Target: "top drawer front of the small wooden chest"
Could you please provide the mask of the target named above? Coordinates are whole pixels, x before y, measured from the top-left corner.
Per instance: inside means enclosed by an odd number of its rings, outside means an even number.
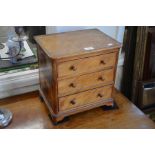
[[[58,77],[75,76],[112,67],[116,63],[117,52],[68,61],[58,64]]]

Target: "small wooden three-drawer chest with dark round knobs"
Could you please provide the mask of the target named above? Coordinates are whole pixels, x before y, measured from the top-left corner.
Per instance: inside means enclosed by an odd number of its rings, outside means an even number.
[[[120,43],[97,29],[36,36],[40,94],[53,122],[113,105]]]

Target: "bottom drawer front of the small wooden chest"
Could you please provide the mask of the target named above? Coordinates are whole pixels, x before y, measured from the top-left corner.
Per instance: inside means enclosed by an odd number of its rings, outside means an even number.
[[[112,85],[92,89],[78,94],[59,98],[59,110],[69,110],[78,106],[100,102],[111,98]]]

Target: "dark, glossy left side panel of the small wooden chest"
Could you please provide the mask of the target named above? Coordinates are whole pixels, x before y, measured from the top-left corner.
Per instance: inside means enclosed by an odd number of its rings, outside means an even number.
[[[57,113],[57,82],[55,63],[38,47],[39,80],[40,89],[50,104],[52,110]]]

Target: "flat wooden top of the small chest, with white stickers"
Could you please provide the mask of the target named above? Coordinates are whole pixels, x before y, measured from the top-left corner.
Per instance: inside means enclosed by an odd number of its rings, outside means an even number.
[[[121,44],[97,29],[79,30],[35,37],[52,59],[80,56],[120,48]]]

